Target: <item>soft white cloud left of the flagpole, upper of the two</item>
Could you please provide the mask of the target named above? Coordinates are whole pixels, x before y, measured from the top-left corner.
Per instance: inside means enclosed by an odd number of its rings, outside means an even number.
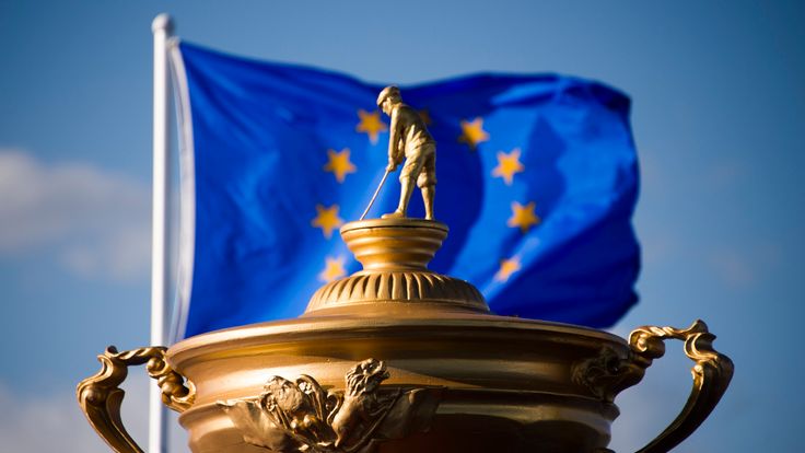
[[[150,191],[130,176],[0,149],[0,257],[52,249],[78,275],[133,279],[149,268],[150,219]]]

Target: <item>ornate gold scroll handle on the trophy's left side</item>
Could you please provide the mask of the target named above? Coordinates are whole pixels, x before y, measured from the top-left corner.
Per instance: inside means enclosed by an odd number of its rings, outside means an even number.
[[[114,346],[98,356],[101,371],[79,384],[75,394],[79,405],[90,425],[118,453],[141,453],[120,419],[124,391],[119,385],[126,380],[129,365],[148,363],[148,374],[156,380],[162,390],[162,403],[177,413],[192,405],[196,388],[191,382],[183,384],[184,378],[165,362],[166,348],[158,346],[118,352]]]

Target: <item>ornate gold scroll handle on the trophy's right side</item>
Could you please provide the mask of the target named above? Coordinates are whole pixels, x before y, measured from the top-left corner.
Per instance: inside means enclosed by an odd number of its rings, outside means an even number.
[[[726,392],[733,378],[733,361],[713,349],[715,335],[703,321],[697,320],[687,329],[643,326],[629,335],[629,346],[638,365],[648,368],[652,360],[663,357],[667,338],[685,341],[685,355],[696,362],[690,369],[693,388],[681,413],[656,439],[638,453],[664,453],[688,438],[708,418]]]

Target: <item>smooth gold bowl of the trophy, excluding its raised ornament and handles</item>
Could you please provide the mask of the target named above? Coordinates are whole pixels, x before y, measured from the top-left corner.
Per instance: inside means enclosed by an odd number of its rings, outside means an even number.
[[[370,355],[387,364],[381,388],[444,388],[428,432],[386,440],[378,452],[516,452],[552,444],[548,451],[583,452],[608,443],[617,408],[574,384],[570,365],[595,356],[602,344],[626,355],[622,339],[481,313],[422,314],[310,316],[174,346],[171,363],[200,383],[196,405],[179,418],[191,449],[248,451],[244,432],[211,407],[218,400],[254,398],[272,375],[308,374],[324,388],[343,388],[347,370]]]

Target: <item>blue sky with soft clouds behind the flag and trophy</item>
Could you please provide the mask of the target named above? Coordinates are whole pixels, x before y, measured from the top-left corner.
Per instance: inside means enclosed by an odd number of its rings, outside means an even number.
[[[290,3],[290,2],[289,2]],[[435,2],[434,2],[435,3]],[[557,2],[559,3],[559,2]],[[795,451],[805,407],[802,2],[0,0],[0,443],[103,452],[73,399],[108,344],[148,344],[151,20],[225,51],[413,83],[597,79],[633,101],[641,303],[614,332],[708,322],[733,385],[677,451]],[[682,405],[679,345],[618,399],[637,450]],[[126,415],[144,442],[145,380]],[[796,423],[798,426],[798,423]],[[182,434],[175,451],[185,451]]]

